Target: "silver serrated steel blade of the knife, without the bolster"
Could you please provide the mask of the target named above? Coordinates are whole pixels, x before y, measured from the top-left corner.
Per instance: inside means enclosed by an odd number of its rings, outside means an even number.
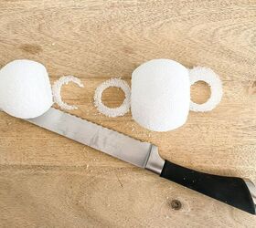
[[[59,109],[51,108],[42,116],[26,120],[141,168],[145,167],[152,149],[149,142],[135,140]]]

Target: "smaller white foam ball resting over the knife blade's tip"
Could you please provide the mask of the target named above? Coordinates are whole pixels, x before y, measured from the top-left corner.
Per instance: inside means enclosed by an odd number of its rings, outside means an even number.
[[[15,60],[0,70],[0,108],[16,118],[36,118],[52,105],[48,72],[31,60]]]

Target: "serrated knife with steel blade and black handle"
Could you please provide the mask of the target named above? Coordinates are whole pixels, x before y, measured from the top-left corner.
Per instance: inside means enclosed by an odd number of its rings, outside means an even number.
[[[59,109],[51,108],[42,116],[26,120],[122,161],[153,171],[162,178],[220,202],[255,214],[256,188],[250,180],[213,175],[182,167],[162,159],[157,147],[152,143],[135,140]]]

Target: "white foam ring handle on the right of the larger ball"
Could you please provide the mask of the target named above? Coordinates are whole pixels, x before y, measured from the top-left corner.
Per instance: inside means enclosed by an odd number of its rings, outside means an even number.
[[[210,111],[215,109],[222,98],[222,83],[219,76],[208,67],[193,67],[189,69],[190,85],[192,86],[197,81],[205,81],[211,91],[211,96],[208,101],[203,104],[197,104],[190,101],[190,110],[192,111]]]

